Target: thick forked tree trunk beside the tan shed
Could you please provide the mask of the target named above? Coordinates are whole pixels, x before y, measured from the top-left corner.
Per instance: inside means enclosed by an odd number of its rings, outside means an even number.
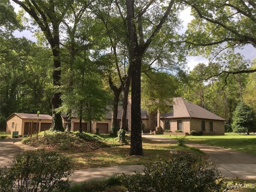
[[[13,0],[19,4],[24,10],[34,18],[38,26],[41,28],[42,32],[52,48],[53,55],[53,86],[59,88],[60,86],[60,36],[59,36],[59,26],[62,22],[68,9],[63,10],[61,13],[56,13],[56,7],[54,1],[42,2],[37,4],[37,1],[26,0],[24,2],[19,0]],[[45,3],[45,4],[44,4]],[[50,27],[49,23],[52,23]],[[60,112],[56,112],[56,108],[61,105],[61,92],[56,90],[52,95],[52,126],[51,130],[64,131],[62,125],[62,118]]]

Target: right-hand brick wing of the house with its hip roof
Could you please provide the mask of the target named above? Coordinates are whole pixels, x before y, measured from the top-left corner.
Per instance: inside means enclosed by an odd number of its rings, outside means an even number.
[[[160,124],[157,125],[156,132],[162,133],[167,129],[190,133],[195,130],[203,131],[204,135],[224,135],[225,119],[181,97],[173,98],[173,102],[170,113],[158,113]]]

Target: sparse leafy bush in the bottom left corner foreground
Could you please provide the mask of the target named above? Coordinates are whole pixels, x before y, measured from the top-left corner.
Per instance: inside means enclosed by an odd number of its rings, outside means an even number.
[[[16,156],[11,168],[0,171],[0,191],[52,192],[67,191],[72,173],[69,158],[44,150],[27,151]]]

